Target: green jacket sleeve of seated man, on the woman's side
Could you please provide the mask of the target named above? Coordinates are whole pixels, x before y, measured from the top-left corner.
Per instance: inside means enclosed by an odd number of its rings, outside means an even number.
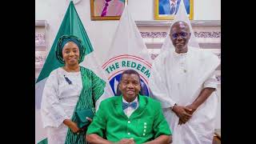
[[[104,101],[102,101],[86,134],[98,134],[98,136],[104,138],[106,133],[106,112],[104,108],[106,109],[106,106],[104,106]]]

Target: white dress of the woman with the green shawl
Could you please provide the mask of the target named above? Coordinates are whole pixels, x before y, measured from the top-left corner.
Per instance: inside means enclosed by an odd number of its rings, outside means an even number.
[[[66,82],[69,78],[70,85]],[[42,123],[47,130],[48,144],[64,144],[68,127],[63,124],[71,119],[82,90],[81,72],[66,72],[62,68],[53,70],[42,94]]]

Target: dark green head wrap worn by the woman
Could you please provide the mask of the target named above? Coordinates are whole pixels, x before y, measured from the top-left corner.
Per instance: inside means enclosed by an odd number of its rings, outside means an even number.
[[[82,40],[74,35],[62,35],[62,37],[58,39],[58,44],[55,50],[55,54],[56,54],[56,57],[58,58],[58,62],[65,64],[65,61],[62,55],[62,50],[67,42],[74,42],[78,46],[78,49],[79,49],[78,63],[82,62],[83,59],[85,58],[86,47],[82,44]]]

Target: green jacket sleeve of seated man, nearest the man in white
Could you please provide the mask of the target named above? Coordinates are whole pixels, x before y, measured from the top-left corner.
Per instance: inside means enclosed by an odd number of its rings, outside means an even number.
[[[160,135],[171,135],[170,127],[168,123],[166,122],[166,118],[162,114],[162,107],[161,104],[158,102],[158,105],[156,106],[156,115],[154,116],[154,124],[153,124],[153,130],[154,130],[154,138],[158,138]]]

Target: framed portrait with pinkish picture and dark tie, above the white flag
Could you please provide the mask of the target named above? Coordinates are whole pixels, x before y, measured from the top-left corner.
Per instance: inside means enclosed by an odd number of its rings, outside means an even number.
[[[128,0],[90,0],[91,20],[119,20]]]

